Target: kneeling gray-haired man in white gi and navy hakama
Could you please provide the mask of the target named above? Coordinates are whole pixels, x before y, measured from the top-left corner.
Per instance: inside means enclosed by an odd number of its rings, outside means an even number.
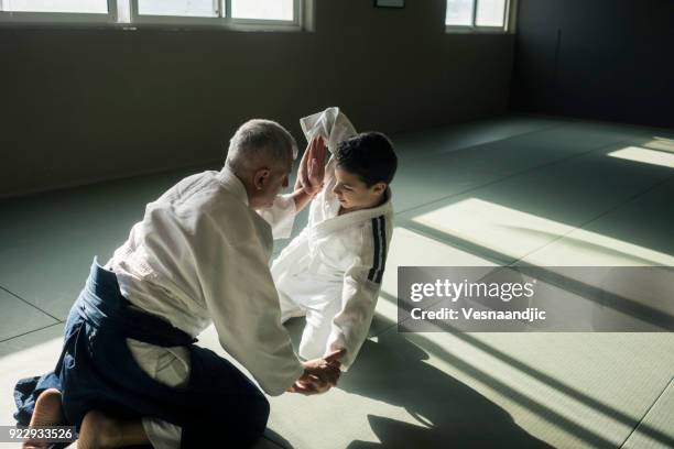
[[[54,372],[17,385],[17,419],[75,425],[79,448],[248,445],[264,430],[269,403],[194,344],[211,322],[268,394],[335,385],[341,354],[298,361],[269,271],[272,236],[287,237],[292,215],[319,188],[316,175],[279,196],[296,152],[280,124],[251,120],[220,172],[189,176],[150,202],[112,259],[94,262]]]

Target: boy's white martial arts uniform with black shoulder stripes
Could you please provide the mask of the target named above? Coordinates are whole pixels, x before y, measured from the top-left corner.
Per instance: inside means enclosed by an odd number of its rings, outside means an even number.
[[[301,120],[307,141],[320,135],[334,152],[356,134],[338,108]],[[368,336],[391,240],[391,190],[385,202],[339,216],[333,194],[335,166],[330,157],[325,187],[311,204],[308,225],[272,263],[282,320],[306,316],[298,353],[305,359],[346,349],[347,370]]]

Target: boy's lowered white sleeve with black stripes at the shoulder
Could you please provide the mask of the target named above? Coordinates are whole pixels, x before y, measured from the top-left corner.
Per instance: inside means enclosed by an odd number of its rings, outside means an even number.
[[[371,231],[370,231],[371,232]],[[360,254],[344,274],[341,310],[333,318],[328,338],[328,352],[346,349],[340,359],[346,371],[356,360],[360,347],[368,337],[374,307],[379,297],[385,262],[385,239],[366,237]],[[372,244],[367,244],[372,242]]]

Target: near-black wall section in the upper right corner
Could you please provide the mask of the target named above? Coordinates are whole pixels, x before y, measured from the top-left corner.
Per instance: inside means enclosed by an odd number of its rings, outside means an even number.
[[[518,19],[513,109],[674,127],[674,1],[520,0]]]

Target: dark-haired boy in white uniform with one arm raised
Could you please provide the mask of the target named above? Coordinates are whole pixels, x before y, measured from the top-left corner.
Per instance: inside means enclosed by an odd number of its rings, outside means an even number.
[[[398,160],[381,133],[356,134],[338,108],[301,120],[309,151],[306,173],[324,165],[316,141],[327,142],[331,157],[325,187],[312,200],[309,220],[272,264],[281,319],[306,316],[298,353],[313,359],[346,350],[341,366],[354,363],[363,343],[381,286],[391,240],[391,189]]]

